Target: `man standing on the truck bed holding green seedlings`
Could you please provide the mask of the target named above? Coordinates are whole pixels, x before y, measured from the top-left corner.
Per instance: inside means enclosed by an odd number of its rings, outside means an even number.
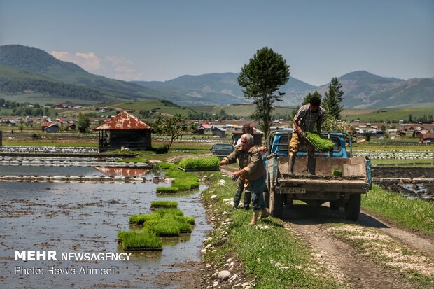
[[[293,136],[289,142],[289,160],[288,160],[288,171],[289,174],[294,173],[295,155],[300,148],[301,142],[306,137],[304,132],[313,132],[314,126],[316,124],[316,130],[318,134],[321,134],[321,125],[324,121],[325,111],[324,108],[320,106],[321,99],[318,97],[312,97],[309,104],[305,104],[300,107],[293,119],[294,129]],[[307,157],[306,157],[306,169],[311,173],[311,168],[309,167],[309,160],[314,158],[315,149],[310,143],[307,143]]]

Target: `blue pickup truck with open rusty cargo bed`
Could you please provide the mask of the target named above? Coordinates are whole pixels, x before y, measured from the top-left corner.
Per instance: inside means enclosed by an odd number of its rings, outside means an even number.
[[[351,136],[346,132],[323,132],[324,138],[335,142],[328,152],[316,150],[314,174],[307,174],[307,150],[300,147],[293,174],[288,174],[288,143],[292,130],[271,132],[268,136],[267,192],[265,202],[272,216],[280,217],[283,209],[294,200],[309,206],[321,206],[329,202],[330,209],[344,207],[347,220],[358,220],[361,194],[372,187],[370,159],[353,157]],[[287,205],[287,206],[285,206]]]

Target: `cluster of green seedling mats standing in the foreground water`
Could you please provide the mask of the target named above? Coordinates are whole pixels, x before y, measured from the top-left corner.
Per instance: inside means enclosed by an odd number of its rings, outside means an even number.
[[[130,216],[130,225],[137,226],[139,230],[120,231],[118,242],[124,250],[162,250],[161,237],[191,233],[195,218],[184,216],[177,206],[177,202],[152,202],[152,213]]]

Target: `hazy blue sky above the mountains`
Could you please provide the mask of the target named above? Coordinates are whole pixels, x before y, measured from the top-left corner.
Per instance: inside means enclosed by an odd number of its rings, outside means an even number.
[[[122,80],[239,72],[268,46],[312,85],[434,77],[433,0],[0,0],[0,45]]]

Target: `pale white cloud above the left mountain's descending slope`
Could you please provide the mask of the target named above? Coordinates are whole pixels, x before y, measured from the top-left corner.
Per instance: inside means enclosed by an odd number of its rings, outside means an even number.
[[[134,62],[125,57],[107,56],[99,59],[94,52],[52,51],[51,55],[57,59],[73,62],[90,73],[100,74],[108,78],[119,80],[141,80],[143,73],[134,68]]]

